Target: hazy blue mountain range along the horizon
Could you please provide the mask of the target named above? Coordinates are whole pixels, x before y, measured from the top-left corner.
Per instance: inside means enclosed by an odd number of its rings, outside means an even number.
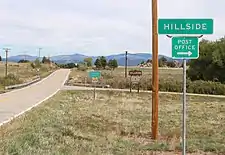
[[[58,64],[65,64],[65,63],[79,63],[84,60],[84,58],[91,57],[93,59],[93,62],[98,58],[98,56],[87,56],[87,55],[82,55],[82,54],[72,54],[72,55],[57,55],[57,56],[52,56],[50,59]],[[124,66],[125,65],[125,54],[114,54],[114,55],[108,55],[105,56],[107,61],[110,59],[116,59],[118,61],[119,66]],[[140,64],[142,61],[147,61],[148,59],[152,59],[152,54],[150,53],[135,53],[131,54],[128,53],[128,66],[137,66]],[[165,57],[167,61],[172,61],[173,59],[164,55],[159,55],[159,58]],[[29,60],[29,61],[34,61],[37,59],[37,56],[30,56],[30,55],[17,55],[17,56],[11,56],[8,58],[8,61],[11,62],[18,62],[19,60]],[[3,58],[3,61],[5,59]]]

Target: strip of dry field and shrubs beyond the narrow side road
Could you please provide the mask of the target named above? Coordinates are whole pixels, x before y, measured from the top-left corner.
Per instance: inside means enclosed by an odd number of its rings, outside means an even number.
[[[128,68],[132,70],[135,68]],[[142,70],[142,77],[139,81],[140,90],[152,90],[152,69],[136,68]],[[183,84],[182,68],[159,68],[159,91],[163,92],[182,92]],[[101,79],[99,84],[109,85],[111,88],[129,89],[130,76],[124,77],[124,68],[117,68],[114,71],[101,70]],[[86,80],[85,80],[86,77]],[[87,71],[73,69],[67,85],[76,85],[76,83],[92,83],[88,78]],[[80,85],[80,84],[79,84]],[[137,84],[132,84],[133,89],[138,89]],[[225,95],[225,84],[213,81],[196,80],[191,81],[187,76],[187,92],[195,94]]]

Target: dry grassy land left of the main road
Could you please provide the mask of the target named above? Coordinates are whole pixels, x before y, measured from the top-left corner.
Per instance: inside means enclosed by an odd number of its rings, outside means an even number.
[[[56,70],[55,66],[49,66],[48,64],[42,64],[40,68],[40,76],[41,78],[46,77],[50,73]],[[36,69],[33,69],[30,63],[9,63],[8,64],[8,75],[14,75],[13,79],[9,83],[10,84],[19,84],[25,83],[28,81],[33,80],[37,75],[38,72]],[[4,79],[5,76],[5,63],[0,62],[0,90],[4,88]],[[8,84],[8,83],[7,83]]]

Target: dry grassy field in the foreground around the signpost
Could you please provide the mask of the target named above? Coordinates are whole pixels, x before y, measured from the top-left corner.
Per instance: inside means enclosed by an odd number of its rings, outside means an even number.
[[[225,154],[225,99],[188,97],[190,154]],[[157,142],[150,137],[151,95],[62,91],[0,128],[0,154],[180,152],[181,96],[161,95]],[[195,152],[195,153],[193,153]]]

